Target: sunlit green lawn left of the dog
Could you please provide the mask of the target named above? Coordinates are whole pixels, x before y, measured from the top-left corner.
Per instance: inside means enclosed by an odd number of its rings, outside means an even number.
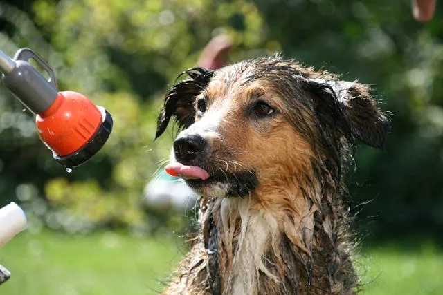
[[[181,254],[177,241],[115,233],[22,233],[0,249],[12,273],[0,294],[156,294]]]

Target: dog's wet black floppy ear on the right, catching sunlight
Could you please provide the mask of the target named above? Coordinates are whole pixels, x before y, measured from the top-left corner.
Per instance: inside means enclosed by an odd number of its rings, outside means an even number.
[[[382,148],[390,129],[388,117],[377,108],[368,86],[356,82],[304,79],[320,99],[316,111],[345,136]]]

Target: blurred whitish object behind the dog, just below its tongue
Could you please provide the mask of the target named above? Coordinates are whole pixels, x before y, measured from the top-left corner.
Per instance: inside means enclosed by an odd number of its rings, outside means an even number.
[[[172,207],[178,211],[194,207],[197,195],[181,178],[161,171],[145,186],[143,200],[149,207]]]

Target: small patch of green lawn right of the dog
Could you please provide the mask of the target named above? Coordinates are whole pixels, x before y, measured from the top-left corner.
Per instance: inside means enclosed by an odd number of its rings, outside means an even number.
[[[412,249],[397,243],[363,252],[358,263],[368,282],[365,294],[443,294],[443,251],[420,239],[413,244]]]

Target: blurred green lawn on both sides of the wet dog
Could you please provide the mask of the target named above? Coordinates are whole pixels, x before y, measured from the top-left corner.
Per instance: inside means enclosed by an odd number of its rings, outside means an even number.
[[[12,272],[0,294],[156,294],[181,256],[181,241],[104,233],[22,233],[0,249]],[[442,294],[443,252],[433,244],[370,247],[358,259],[365,294]]]

